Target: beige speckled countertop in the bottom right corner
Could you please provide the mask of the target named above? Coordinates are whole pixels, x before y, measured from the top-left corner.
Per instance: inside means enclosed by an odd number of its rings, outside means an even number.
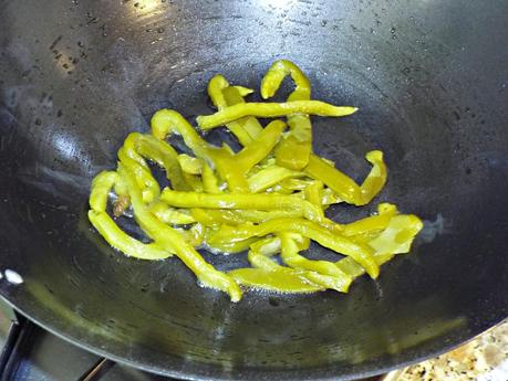
[[[508,381],[508,319],[468,343],[384,381]]]

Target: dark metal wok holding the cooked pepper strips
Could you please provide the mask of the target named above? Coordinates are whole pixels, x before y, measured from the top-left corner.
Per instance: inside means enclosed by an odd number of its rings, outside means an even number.
[[[1,295],[86,349],[187,379],[352,379],[484,331],[508,316],[506,14],[502,0],[1,1],[0,269],[24,281],[4,276]],[[356,180],[385,152],[376,201],[425,220],[412,253],[349,295],[231,304],[176,258],[108,247],[87,192],[127,133],[162,107],[209,114],[214,74],[258,88],[281,57],[314,98],[360,107],[314,118],[314,148]]]

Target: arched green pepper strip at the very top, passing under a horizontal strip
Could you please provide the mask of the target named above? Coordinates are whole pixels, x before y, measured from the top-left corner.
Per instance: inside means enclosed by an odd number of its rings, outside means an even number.
[[[294,82],[296,88],[289,95],[288,102],[309,100],[311,85],[309,78],[292,62],[276,61],[261,81],[263,99],[272,97],[287,75]],[[289,169],[301,170],[309,162],[312,152],[312,125],[308,115],[288,116],[290,133],[284,136],[276,149],[277,163]]]

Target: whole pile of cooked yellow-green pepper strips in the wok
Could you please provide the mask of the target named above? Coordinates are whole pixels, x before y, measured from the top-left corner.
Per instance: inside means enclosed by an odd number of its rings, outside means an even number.
[[[92,182],[89,218],[97,232],[132,257],[177,256],[203,286],[228,293],[232,301],[241,298],[242,288],[346,293],[355,277],[376,278],[383,263],[407,253],[423,224],[393,204],[380,203],[375,214],[346,224],[326,218],[330,205],[365,205],[382,190],[387,176],[383,154],[365,155],[372,168],[357,184],[314,152],[310,116],[344,117],[356,108],[311,99],[309,80],[286,60],[274,62],[262,78],[262,98],[272,97],[287,76],[294,89],[283,103],[250,103],[246,97],[252,89],[214,76],[208,94],[217,112],[198,116],[197,128],[176,110],[156,112],[152,133],[129,134],[116,170]],[[274,119],[262,126],[258,118]],[[225,142],[211,145],[199,134],[222,126],[242,146],[239,151]],[[183,138],[187,152],[166,140],[172,135]],[[169,184],[164,189],[153,165],[165,170]],[[134,215],[149,243],[117,225],[115,218],[123,213]],[[336,261],[305,256],[311,241],[336,252]],[[250,267],[221,272],[198,248],[216,255],[248,252]]]

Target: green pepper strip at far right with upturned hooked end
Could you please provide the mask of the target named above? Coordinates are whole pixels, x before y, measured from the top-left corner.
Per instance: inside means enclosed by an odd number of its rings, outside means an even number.
[[[369,203],[386,182],[386,166],[381,151],[371,151],[366,155],[373,165],[363,184],[359,187],[353,179],[342,173],[335,167],[319,156],[311,155],[304,172],[311,178],[321,180],[348,203],[364,205]]]

